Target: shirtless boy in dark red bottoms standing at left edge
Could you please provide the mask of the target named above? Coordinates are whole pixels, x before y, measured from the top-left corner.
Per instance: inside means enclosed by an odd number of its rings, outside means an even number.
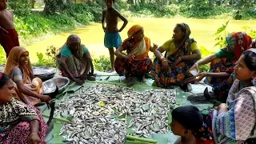
[[[14,46],[19,46],[18,33],[14,26],[14,14],[6,10],[8,0],[0,0],[0,44],[6,51],[6,58]]]

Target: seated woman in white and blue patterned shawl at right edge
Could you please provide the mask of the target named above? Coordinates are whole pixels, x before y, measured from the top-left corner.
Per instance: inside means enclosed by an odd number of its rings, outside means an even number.
[[[218,110],[202,111],[206,122],[196,134],[198,143],[255,143],[251,138],[256,138],[256,50],[242,53],[234,78],[226,103]]]

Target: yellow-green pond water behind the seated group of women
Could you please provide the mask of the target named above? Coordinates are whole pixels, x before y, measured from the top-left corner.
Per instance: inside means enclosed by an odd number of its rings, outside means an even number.
[[[140,24],[144,26],[145,34],[151,39],[151,42],[162,45],[169,38],[172,37],[172,31],[174,26],[178,22],[186,22],[192,31],[190,35],[198,42],[198,46],[205,46],[207,50],[216,51],[219,48],[214,47],[214,33],[219,26],[222,26],[224,20],[222,19],[187,19],[187,18],[129,18],[128,26],[122,31],[122,40],[127,38],[127,30],[134,24]],[[252,26],[256,21],[230,21],[227,26],[228,31],[243,31],[242,26]],[[118,23],[118,27],[122,26],[122,22]],[[108,56],[108,50],[104,47],[104,33],[102,31],[102,25],[95,23],[91,26],[84,26],[75,30],[68,31],[66,33],[54,35],[50,38],[45,38],[40,42],[36,42],[30,46],[26,46],[26,49],[30,51],[30,58],[32,62],[37,62],[38,58],[36,53],[46,53],[47,46],[61,47],[65,42],[69,34],[78,34],[82,39],[82,43],[85,44],[90,53],[97,58],[99,55]],[[23,45],[24,46],[24,45]]]

